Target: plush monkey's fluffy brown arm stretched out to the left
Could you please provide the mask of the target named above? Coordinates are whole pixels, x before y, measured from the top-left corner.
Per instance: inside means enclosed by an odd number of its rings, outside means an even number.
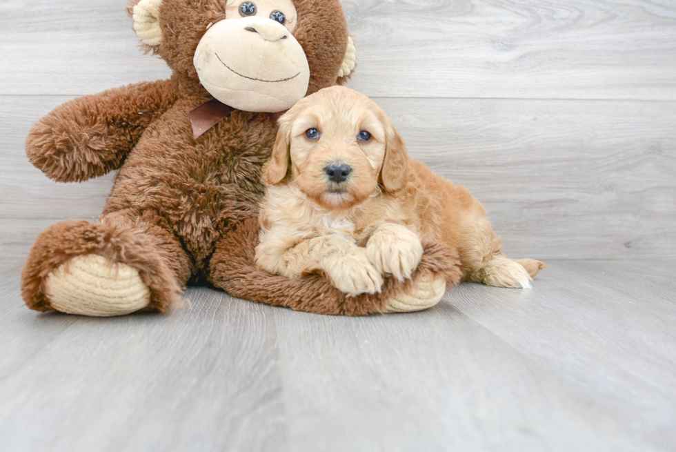
[[[170,80],[141,82],[73,99],[40,119],[26,138],[30,163],[57,182],[120,168],[143,130],[176,101]]]

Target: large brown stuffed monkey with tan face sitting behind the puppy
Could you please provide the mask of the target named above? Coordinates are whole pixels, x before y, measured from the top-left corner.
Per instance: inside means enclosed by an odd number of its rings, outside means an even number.
[[[188,284],[332,315],[417,311],[460,273],[426,244],[412,279],[346,297],[323,275],[257,271],[257,210],[277,115],[355,68],[339,0],[140,0],[129,8],[168,80],[80,97],[30,130],[30,162],[59,182],[117,171],[98,222],[44,230],[21,275],[37,311],[91,316],[166,311]]]

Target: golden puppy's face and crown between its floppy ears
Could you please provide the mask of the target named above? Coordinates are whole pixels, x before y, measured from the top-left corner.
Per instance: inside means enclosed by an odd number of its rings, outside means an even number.
[[[287,114],[291,180],[328,209],[351,208],[377,193],[386,153],[385,114],[368,97],[327,88]],[[282,119],[284,121],[284,119]]]

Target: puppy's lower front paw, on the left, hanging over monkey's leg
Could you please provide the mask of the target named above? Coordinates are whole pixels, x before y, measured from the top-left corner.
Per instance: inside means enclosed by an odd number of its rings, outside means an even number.
[[[341,257],[325,271],[332,284],[350,297],[378,293],[383,285],[383,277],[369,262],[363,248]]]

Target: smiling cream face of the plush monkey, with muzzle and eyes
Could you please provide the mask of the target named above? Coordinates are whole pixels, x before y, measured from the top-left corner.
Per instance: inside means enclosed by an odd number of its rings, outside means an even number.
[[[310,67],[292,32],[290,0],[229,0],[226,19],[208,28],[193,63],[202,86],[233,108],[279,112],[308,90]]]

